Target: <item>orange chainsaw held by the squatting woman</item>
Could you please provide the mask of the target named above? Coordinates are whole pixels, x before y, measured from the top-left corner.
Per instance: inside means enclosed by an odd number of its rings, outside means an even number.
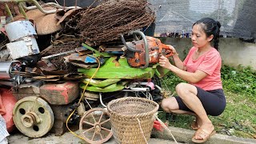
[[[160,55],[165,55],[169,58],[173,55],[170,47],[162,44],[158,38],[148,37],[142,31],[134,31],[132,33],[136,41],[126,42],[121,34],[122,43],[126,46],[126,58],[130,66],[141,67],[145,69],[150,63],[155,64],[159,62]],[[142,40],[137,37],[139,34]]]

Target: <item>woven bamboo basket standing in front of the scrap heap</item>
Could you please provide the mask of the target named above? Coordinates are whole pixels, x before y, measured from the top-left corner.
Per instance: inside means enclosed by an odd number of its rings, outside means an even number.
[[[146,98],[126,97],[107,105],[114,139],[118,143],[147,143],[158,103]]]

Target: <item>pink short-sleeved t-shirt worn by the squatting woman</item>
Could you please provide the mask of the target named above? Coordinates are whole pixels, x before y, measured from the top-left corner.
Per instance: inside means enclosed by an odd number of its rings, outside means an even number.
[[[186,66],[186,71],[194,73],[196,70],[202,70],[208,75],[202,78],[201,81],[191,84],[202,88],[202,90],[222,89],[222,58],[218,50],[212,48],[206,54],[202,54],[198,59],[194,60],[192,56],[196,50],[198,50],[197,47],[192,47],[183,62],[184,66]]]

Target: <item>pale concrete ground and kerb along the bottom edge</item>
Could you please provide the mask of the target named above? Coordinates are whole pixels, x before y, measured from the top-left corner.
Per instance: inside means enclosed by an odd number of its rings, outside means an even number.
[[[194,134],[194,130],[186,130],[177,127],[169,126],[169,130],[174,135],[174,138],[181,143],[193,143],[191,142],[192,135]],[[80,134],[79,130],[74,130],[76,134]],[[159,132],[153,130],[151,133],[152,138],[150,138],[149,144],[174,144],[171,135],[166,130]],[[24,134],[16,132],[14,134],[10,134],[8,137],[10,144],[83,144],[86,143],[80,138],[74,136],[70,132],[63,134],[62,136],[55,136],[54,134],[46,134],[42,138],[28,138]],[[115,144],[114,138],[110,138],[107,144]],[[234,136],[227,136],[222,134],[214,134],[210,139],[208,139],[205,144],[216,144],[216,143],[223,143],[223,144],[256,144],[255,139],[251,138],[238,138]]]

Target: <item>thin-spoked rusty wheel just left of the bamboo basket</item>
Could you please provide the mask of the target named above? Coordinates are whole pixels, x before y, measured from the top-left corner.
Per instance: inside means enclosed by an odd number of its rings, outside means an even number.
[[[107,110],[94,108],[83,114],[79,130],[89,143],[103,143],[112,137],[110,116]]]

